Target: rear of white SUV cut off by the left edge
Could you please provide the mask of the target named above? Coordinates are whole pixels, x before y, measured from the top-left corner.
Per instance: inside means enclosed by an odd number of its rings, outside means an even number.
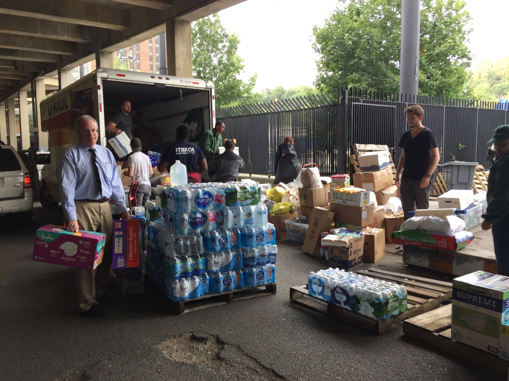
[[[32,176],[10,145],[0,144],[0,216],[18,213],[32,221],[34,194]]]

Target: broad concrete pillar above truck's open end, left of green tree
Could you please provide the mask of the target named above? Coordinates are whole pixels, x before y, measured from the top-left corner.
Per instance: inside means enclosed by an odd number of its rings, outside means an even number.
[[[166,56],[168,75],[192,78],[190,22],[183,20],[166,22]]]

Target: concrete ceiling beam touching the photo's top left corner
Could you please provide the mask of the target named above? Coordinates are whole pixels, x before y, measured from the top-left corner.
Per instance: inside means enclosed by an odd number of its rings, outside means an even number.
[[[127,10],[73,0],[0,0],[0,13],[114,30],[130,25]]]

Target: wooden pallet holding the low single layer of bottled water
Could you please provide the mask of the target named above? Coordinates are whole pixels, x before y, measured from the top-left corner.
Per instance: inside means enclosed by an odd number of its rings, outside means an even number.
[[[453,294],[453,284],[440,280],[399,274],[376,268],[357,271],[357,273],[404,285],[408,293],[408,311],[400,313],[397,316],[392,316],[388,320],[376,320],[372,317],[361,315],[360,313],[350,311],[338,305],[310,296],[307,291],[307,285],[291,287],[290,300],[315,311],[325,313],[329,316],[336,317],[337,319],[368,329],[379,335],[389,331],[393,323],[438,308],[441,302],[450,299]]]

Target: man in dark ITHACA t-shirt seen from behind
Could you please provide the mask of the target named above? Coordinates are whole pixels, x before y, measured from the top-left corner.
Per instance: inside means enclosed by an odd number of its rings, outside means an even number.
[[[199,146],[189,143],[187,138],[189,138],[189,126],[179,125],[175,134],[177,143],[164,150],[157,170],[164,173],[168,167],[175,164],[175,161],[180,160],[180,163],[187,168],[187,181],[202,182],[202,173],[207,171],[205,155]]]

